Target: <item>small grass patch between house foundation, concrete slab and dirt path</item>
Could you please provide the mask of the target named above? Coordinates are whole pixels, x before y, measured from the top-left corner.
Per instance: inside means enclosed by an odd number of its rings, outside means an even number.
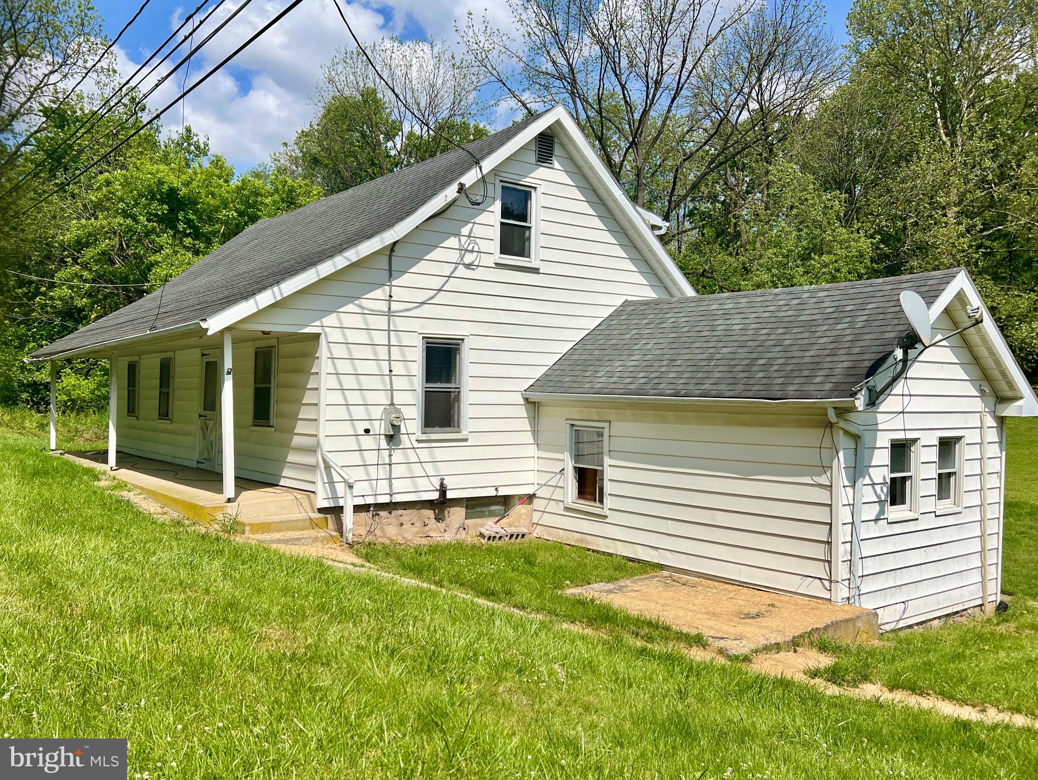
[[[609,636],[629,635],[653,642],[707,646],[702,634],[677,631],[591,598],[563,591],[593,582],[612,582],[656,572],[616,555],[599,555],[557,541],[410,547],[360,545],[355,552],[379,568],[440,585],[527,612],[577,623]]]

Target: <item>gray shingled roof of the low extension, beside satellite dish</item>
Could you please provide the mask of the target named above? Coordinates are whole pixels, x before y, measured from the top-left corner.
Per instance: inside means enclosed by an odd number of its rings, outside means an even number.
[[[811,287],[626,301],[527,392],[766,400],[847,398],[960,269]]]

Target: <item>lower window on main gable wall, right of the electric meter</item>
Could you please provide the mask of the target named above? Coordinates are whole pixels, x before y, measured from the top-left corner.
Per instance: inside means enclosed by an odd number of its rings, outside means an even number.
[[[421,433],[465,430],[465,340],[421,339]]]

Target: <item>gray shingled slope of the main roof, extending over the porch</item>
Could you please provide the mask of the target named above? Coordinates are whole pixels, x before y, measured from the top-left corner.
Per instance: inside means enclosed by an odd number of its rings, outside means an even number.
[[[536,117],[466,145],[481,160]],[[210,253],[165,288],[37,350],[43,359],[214,316],[390,229],[460,180],[472,158],[455,148],[280,217],[261,220]],[[480,192],[473,187],[473,193]]]

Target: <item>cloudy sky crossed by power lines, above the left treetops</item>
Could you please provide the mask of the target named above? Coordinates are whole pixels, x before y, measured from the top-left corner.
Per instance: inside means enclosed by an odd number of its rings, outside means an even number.
[[[401,34],[415,26],[428,36],[452,40],[455,20],[463,19],[466,10],[471,8],[481,17],[487,5],[497,9],[488,13],[500,12],[500,4],[493,0],[397,0],[387,4],[385,12],[360,2],[340,2],[353,30],[365,43]],[[253,0],[192,59],[188,83],[195,83],[286,4],[288,0]],[[240,5],[241,2],[224,3],[204,28],[195,30],[195,44]],[[174,29],[183,19],[183,11],[174,12],[169,29]],[[185,120],[196,133],[209,136],[213,150],[226,157],[240,171],[265,162],[312,118],[311,95],[323,65],[336,50],[350,46],[350,33],[332,0],[304,0],[239,54],[227,69],[215,74],[188,95]],[[152,83],[186,52],[185,45]],[[130,56],[122,50],[117,55],[119,69],[126,76],[144,59],[140,54]],[[156,89],[147,101],[153,112],[180,93],[183,78],[182,68]],[[180,119],[177,104],[163,117],[166,131],[179,129]]]

